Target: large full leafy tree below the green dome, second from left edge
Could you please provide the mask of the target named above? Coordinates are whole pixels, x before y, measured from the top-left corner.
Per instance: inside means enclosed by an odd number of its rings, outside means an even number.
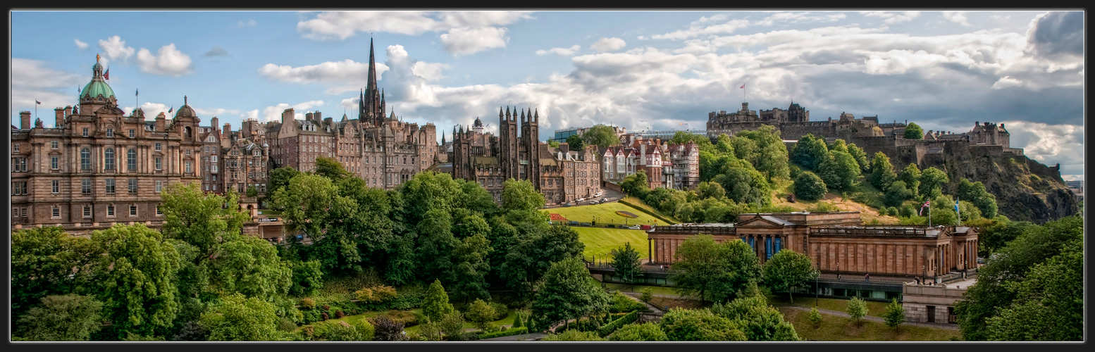
[[[99,230],[91,240],[103,250],[92,269],[96,298],[118,337],[165,332],[178,313],[175,246],[143,224]]]

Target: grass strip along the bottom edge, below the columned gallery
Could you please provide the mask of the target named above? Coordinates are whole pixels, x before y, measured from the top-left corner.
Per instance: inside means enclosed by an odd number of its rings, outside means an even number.
[[[797,305],[797,301],[795,302]],[[960,339],[961,332],[952,329],[901,325],[897,330],[885,324],[864,320],[856,326],[846,317],[821,314],[821,325],[814,328],[807,317],[809,312],[780,308],[783,317],[795,326],[799,338],[815,341],[949,341]]]

